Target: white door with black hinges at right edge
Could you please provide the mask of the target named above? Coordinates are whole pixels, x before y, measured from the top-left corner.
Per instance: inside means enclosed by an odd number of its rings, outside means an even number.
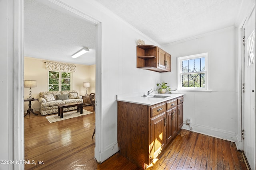
[[[244,25],[244,154],[256,170],[255,149],[255,8]]]

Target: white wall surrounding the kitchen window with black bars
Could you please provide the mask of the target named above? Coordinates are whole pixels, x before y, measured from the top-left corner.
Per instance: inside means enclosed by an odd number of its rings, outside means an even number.
[[[212,92],[179,91],[185,94],[183,121],[190,118],[193,131],[229,141],[236,140],[238,112],[236,42],[236,27],[228,27],[162,46],[172,55],[172,72],[162,73],[161,81],[172,90],[177,89],[177,57],[208,53]]]

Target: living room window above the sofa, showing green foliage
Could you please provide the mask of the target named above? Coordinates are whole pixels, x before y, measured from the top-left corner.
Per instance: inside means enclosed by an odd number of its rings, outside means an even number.
[[[49,71],[48,91],[70,90],[71,72]]]

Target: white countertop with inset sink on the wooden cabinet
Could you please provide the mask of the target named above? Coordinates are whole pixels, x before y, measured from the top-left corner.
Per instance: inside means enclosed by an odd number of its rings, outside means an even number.
[[[168,100],[172,100],[174,98],[178,98],[183,96],[184,94],[152,94],[158,96],[170,96],[168,98],[149,98],[149,97],[142,97],[143,94],[130,94],[130,95],[117,95],[117,101],[121,102],[128,102],[134,104],[142,104],[147,106],[152,106],[161,102],[165,102]]]

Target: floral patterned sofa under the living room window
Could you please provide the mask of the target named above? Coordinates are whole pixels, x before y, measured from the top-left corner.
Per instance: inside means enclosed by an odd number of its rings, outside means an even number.
[[[55,91],[55,92],[40,92],[39,111],[41,115],[49,115],[52,113],[58,113],[58,104],[83,102],[82,96],[79,96],[76,90],[69,91]],[[64,108],[63,111],[75,110],[77,107]]]

